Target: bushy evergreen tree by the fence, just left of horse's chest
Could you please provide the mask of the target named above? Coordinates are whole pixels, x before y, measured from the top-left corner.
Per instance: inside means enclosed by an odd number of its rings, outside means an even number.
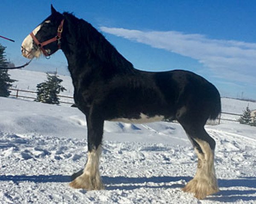
[[[37,102],[59,104],[59,98],[57,94],[66,90],[60,85],[62,79],[59,79],[57,75],[47,74],[47,81],[38,84],[37,87]]]

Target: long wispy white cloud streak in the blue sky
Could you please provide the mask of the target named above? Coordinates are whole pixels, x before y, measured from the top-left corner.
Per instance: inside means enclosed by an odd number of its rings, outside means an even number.
[[[139,31],[101,27],[113,34],[154,48],[197,59],[216,77],[256,85],[256,43],[213,40],[201,34],[178,31]]]

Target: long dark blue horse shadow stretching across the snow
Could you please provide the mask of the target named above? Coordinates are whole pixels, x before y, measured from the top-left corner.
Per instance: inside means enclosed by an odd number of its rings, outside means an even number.
[[[102,176],[102,180],[106,185],[106,190],[134,190],[141,187],[145,188],[182,188],[184,184],[166,184],[169,182],[177,182],[184,180],[188,182],[192,177],[189,176],[153,176],[153,177],[125,177],[125,176]],[[0,181],[13,181],[15,184],[19,182],[48,183],[59,182],[67,183],[72,181],[71,176],[67,175],[0,175]],[[158,185],[155,185],[158,184]],[[248,187],[255,190],[221,190],[218,193],[206,198],[211,201],[219,202],[235,202],[256,201],[256,196],[250,194],[256,193],[256,177],[241,177],[239,179],[218,179],[219,187]]]

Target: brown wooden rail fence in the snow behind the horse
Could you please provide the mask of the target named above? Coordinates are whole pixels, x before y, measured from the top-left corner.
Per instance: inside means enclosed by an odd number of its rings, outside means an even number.
[[[31,94],[37,94],[36,91],[26,91],[26,90],[21,90],[21,89],[15,89],[15,88],[9,88],[10,91],[16,91],[16,94],[10,94],[10,96],[15,96],[16,98],[20,97],[20,98],[26,98],[26,99],[36,99],[36,97],[31,97],[31,96],[23,96],[20,95],[20,92],[25,92],[25,93],[31,93]],[[67,99],[74,99],[72,96],[63,96],[63,95],[57,95],[60,98],[67,98]],[[71,104],[73,105],[74,103],[70,103],[70,102],[65,102],[65,101],[60,101],[60,103],[66,103],[66,104]],[[227,115],[233,115],[233,116],[242,116],[241,114],[237,114],[237,113],[227,113],[227,112],[221,112],[221,114],[227,114]],[[238,122],[237,120],[234,119],[225,119],[225,118],[221,118],[218,117],[218,123],[220,124],[220,120],[226,120],[226,121],[232,121],[232,122]]]

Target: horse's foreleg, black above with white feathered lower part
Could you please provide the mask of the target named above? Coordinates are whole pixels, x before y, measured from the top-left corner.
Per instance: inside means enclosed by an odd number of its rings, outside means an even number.
[[[104,189],[99,173],[99,157],[101,155],[101,142],[103,134],[104,120],[90,115],[87,117],[88,128],[88,153],[87,163],[83,172],[73,174],[76,177],[70,186],[73,188],[83,188],[86,190]]]

